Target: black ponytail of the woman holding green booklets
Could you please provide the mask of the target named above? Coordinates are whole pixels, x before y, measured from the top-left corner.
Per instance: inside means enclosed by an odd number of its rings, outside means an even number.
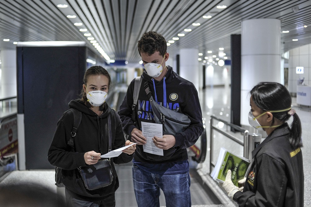
[[[291,129],[290,129],[290,145],[296,149],[298,147],[302,147],[302,139],[301,139],[301,122],[300,118],[297,115],[297,113],[294,113],[293,115],[294,121],[291,124]]]

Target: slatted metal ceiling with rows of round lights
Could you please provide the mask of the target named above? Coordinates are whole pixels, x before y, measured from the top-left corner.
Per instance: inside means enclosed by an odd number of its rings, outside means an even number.
[[[90,33],[109,58],[137,63],[137,41],[142,33],[155,30],[167,41],[185,34],[168,46],[171,57],[181,48],[218,56],[223,47],[230,59],[230,35],[240,34],[241,21],[253,18],[280,19],[280,32],[289,31],[281,33],[282,52],[311,43],[311,0],[0,0],[0,50],[15,49],[13,42],[22,41],[85,41],[100,54],[84,36]],[[184,32],[186,28],[192,31]]]

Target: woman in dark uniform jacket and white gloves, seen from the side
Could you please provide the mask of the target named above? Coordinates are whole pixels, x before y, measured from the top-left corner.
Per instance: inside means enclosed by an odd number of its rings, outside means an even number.
[[[234,186],[231,171],[222,187],[239,206],[303,206],[301,123],[290,93],[279,83],[261,82],[250,94],[249,124],[268,136],[252,152],[253,164],[240,181],[244,189]]]

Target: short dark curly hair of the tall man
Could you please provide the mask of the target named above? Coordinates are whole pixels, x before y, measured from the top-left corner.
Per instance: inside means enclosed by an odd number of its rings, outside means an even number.
[[[155,31],[145,32],[138,41],[139,55],[141,53],[147,53],[151,56],[153,53],[159,52],[161,56],[164,56],[166,50],[167,44],[165,38]]]

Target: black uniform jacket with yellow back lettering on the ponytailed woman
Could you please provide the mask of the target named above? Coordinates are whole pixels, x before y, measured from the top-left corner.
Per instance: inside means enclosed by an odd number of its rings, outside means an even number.
[[[289,142],[289,127],[276,128],[255,150],[243,192],[234,194],[239,206],[303,206],[304,169],[300,148]]]

